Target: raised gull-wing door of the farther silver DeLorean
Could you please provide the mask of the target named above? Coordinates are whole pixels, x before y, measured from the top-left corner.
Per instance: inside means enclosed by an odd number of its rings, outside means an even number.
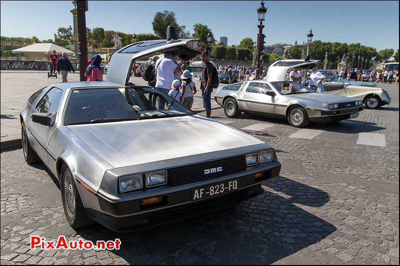
[[[293,67],[307,69],[310,66],[317,66],[319,60],[279,60],[274,62],[268,67],[268,71],[266,72],[266,76],[264,80],[273,82],[273,81],[284,81],[286,80],[287,71]]]

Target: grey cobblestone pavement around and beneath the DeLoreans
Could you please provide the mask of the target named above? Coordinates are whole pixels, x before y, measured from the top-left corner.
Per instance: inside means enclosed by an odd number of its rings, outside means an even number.
[[[117,234],[94,225],[72,230],[58,182],[21,150],[1,153],[1,264],[350,264],[399,263],[398,86],[393,102],[357,119],[311,124],[312,139],[287,122],[241,115],[213,118],[248,131],[276,149],[281,175],[265,192],[218,213]],[[244,129],[243,129],[244,130]],[[385,146],[357,144],[359,133],[382,134]],[[39,251],[30,235],[55,240],[121,240],[117,251]]]

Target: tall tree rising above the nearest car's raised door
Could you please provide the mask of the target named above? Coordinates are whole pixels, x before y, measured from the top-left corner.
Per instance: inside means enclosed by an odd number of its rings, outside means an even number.
[[[168,26],[175,27],[178,37],[185,30],[185,26],[179,27],[176,22],[175,13],[168,10],[156,12],[151,24],[153,25],[154,33],[161,39],[166,39],[166,28]]]

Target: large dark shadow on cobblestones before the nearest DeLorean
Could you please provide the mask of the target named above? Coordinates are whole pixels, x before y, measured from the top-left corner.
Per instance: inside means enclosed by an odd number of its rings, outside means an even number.
[[[119,238],[111,251],[129,264],[272,264],[326,238],[334,226],[293,203],[321,207],[326,192],[277,177],[256,198],[197,218],[131,233],[100,225],[77,233],[86,240]],[[285,194],[284,196],[281,194]]]

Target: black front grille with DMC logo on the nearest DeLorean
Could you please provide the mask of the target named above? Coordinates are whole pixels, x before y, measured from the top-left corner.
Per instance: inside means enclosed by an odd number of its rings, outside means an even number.
[[[218,167],[222,171],[216,171]],[[204,174],[204,170],[209,169],[209,174]],[[199,164],[192,164],[168,169],[168,185],[179,186],[197,181],[207,180],[215,177],[230,175],[246,170],[246,157],[240,155],[216,161]]]

